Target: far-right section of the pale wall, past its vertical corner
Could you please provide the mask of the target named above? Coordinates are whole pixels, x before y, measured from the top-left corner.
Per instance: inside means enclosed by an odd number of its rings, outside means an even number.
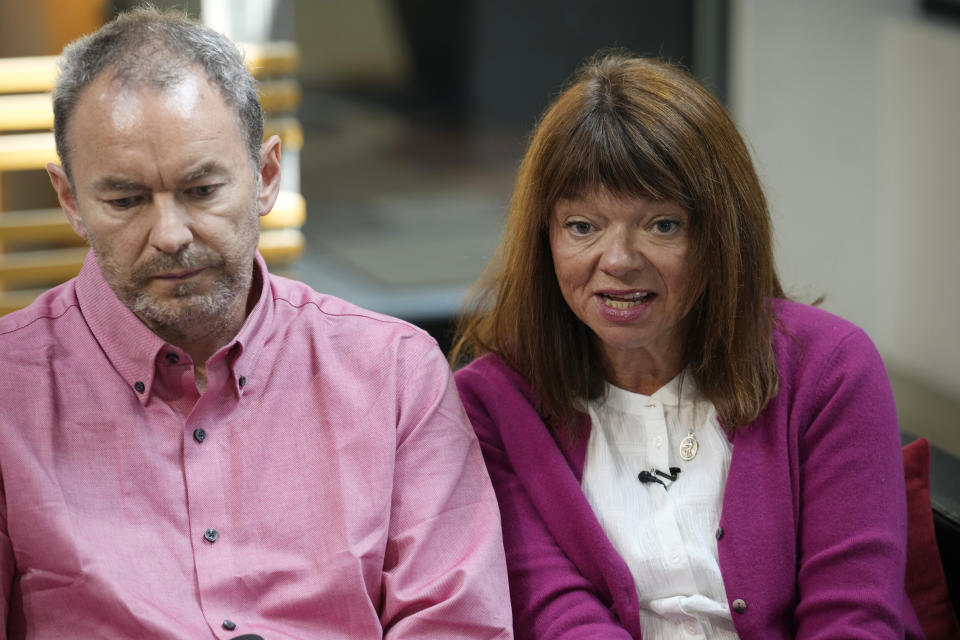
[[[960,24],[889,20],[884,39],[881,176],[896,295],[883,348],[960,396]]]

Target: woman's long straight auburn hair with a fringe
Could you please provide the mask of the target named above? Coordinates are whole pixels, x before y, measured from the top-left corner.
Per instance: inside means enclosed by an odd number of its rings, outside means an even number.
[[[451,363],[495,353],[530,383],[558,433],[609,379],[598,338],[560,291],[549,229],[561,199],[605,189],[691,213],[697,282],[685,365],[729,428],[776,395],[771,300],[783,298],[770,216],[750,154],[723,106],[667,62],[601,53],[547,108],[520,165],[500,245],[457,324]]]

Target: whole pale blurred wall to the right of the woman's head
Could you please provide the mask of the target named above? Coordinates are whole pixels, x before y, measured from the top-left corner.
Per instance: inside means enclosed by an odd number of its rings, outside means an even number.
[[[784,284],[960,401],[960,23],[914,0],[732,4],[731,109]]]

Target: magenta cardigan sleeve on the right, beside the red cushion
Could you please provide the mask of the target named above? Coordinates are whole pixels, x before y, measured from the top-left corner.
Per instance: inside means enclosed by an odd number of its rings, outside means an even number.
[[[797,407],[796,638],[903,638],[906,495],[890,384],[860,330],[822,362]]]

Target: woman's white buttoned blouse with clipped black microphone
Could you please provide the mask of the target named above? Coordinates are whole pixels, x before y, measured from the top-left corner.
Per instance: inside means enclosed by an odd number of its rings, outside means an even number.
[[[633,574],[645,640],[737,638],[720,575],[716,530],[733,447],[692,376],[652,396],[607,385],[589,403],[592,428],[583,492]],[[693,427],[699,451],[689,462],[680,443]],[[669,474],[642,483],[641,471]]]

